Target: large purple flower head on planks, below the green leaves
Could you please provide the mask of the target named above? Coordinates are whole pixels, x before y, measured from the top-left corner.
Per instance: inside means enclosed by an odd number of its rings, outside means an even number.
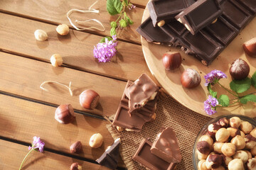
[[[117,35],[112,36],[113,40],[105,39],[105,42],[97,43],[93,50],[93,55],[99,62],[110,62],[110,59],[117,53]]]

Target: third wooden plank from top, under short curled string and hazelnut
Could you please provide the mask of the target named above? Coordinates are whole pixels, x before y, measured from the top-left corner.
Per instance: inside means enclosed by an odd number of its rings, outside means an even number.
[[[125,81],[80,72],[67,67],[55,68],[45,62],[4,52],[0,52],[0,65],[1,91],[55,105],[70,103],[75,109],[97,115],[112,115],[117,111],[126,84]],[[68,89],[56,84],[45,84],[44,87],[48,91],[40,89],[41,83],[48,80],[66,85],[72,81],[73,96],[70,96]],[[86,110],[80,106],[79,95],[85,89],[92,89],[100,94],[100,104],[97,108]]]

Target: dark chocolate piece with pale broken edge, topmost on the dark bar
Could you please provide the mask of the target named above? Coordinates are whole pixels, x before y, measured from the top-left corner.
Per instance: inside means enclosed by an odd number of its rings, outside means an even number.
[[[222,11],[216,0],[199,0],[175,16],[186,28],[195,35],[199,30],[205,28],[215,21]]]

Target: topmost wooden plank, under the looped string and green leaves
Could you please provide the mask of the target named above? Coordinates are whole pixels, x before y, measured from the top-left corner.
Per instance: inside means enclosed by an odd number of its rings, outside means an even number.
[[[73,8],[80,10],[87,10],[95,1],[67,1],[67,0],[45,0],[45,1],[10,1],[1,0],[1,11],[16,13],[18,15],[27,16],[29,18],[36,18],[37,20],[47,21],[54,24],[65,23],[71,26],[66,13]],[[73,13],[71,18],[73,21],[78,19],[85,21],[87,19],[95,18],[102,22],[105,26],[105,32],[98,30],[90,30],[90,33],[97,33],[100,35],[110,35],[110,21],[116,21],[118,16],[110,16],[106,9],[106,1],[98,1],[94,8],[100,10],[100,13]],[[136,29],[142,21],[144,8],[136,8],[134,11],[127,10],[129,17],[134,21],[134,24],[128,29],[119,30],[118,38],[122,40],[129,40],[131,42],[141,43],[140,35]],[[95,23],[90,23],[92,26],[97,26]],[[99,26],[97,26],[99,27]]]

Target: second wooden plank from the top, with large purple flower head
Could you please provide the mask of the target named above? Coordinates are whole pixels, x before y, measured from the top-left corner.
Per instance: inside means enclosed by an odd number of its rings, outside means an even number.
[[[117,79],[135,80],[140,74],[149,72],[142,47],[127,42],[119,42],[117,55],[111,62],[99,63],[93,57],[94,45],[101,37],[80,31],[71,31],[63,37],[57,35],[55,26],[31,21],[25,18],[0,13],[0,49],[50,61],[50,56],[59,53],[64,64],[88,72],[106,75]],[[36,29],[46,30],[48,40],[39,42],[34,38]]]

